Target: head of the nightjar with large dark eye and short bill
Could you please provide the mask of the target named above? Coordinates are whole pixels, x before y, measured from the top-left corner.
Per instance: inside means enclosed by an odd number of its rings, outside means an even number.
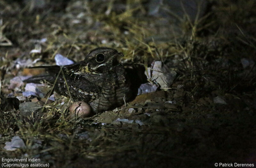
[[[117,65],[117,57],[124,56],[113,48],[100,47],[92,50],[84,59],[85,70],[94,73],[103,73]]]

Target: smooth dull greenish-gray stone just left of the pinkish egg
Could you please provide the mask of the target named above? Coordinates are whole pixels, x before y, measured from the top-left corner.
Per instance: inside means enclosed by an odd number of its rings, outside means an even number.
[[[20,114],[26,117],[30,117],[32,113],[36,114],[36,116],[42,116],[42,106],[33,102],[24,102],[19,105]]]

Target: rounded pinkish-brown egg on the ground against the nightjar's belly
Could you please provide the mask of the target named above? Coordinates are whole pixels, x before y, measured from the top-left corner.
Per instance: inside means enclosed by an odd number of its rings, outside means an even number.
[[[75,114],[78,117],[87,117],[91,114],[92,108],[88,103],[83,101],[76,101],[69,107],[71,114]]]

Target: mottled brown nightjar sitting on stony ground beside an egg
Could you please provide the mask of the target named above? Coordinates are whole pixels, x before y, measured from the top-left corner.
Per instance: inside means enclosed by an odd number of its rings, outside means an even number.
[[[84,59],[65,66],[39,66],[44,75],[30,77],[24,82],[39,83],[45,80],[54,84],[54,90],[77,101],[91,105],[94,112],[101,112],[124,104],[132,98],[131,79],[123,65],[117,62],[124,56],[115,49],[100,47]]]

